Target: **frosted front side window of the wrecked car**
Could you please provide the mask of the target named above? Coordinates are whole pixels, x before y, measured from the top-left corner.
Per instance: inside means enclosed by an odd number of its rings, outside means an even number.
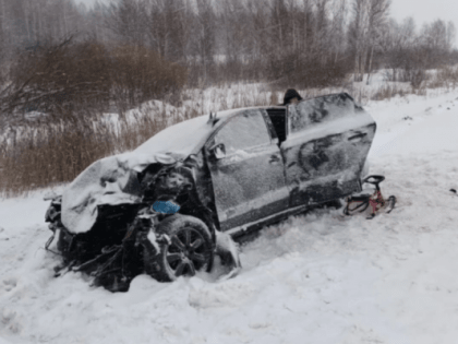
[[[222,143],[226,154],[270,143],[266,122],[257,111],[244,111],[232,117],[215,135],[215,143]]]

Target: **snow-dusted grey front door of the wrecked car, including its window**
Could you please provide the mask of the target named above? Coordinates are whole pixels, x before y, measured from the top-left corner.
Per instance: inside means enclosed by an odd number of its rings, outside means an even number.
[[[266,116],[264,109],[239,112],[205,146],[221,230],[288,207],[284,158]]]

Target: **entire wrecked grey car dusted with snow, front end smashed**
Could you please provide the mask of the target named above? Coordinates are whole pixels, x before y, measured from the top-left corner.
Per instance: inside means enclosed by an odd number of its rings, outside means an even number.
[[[160,282],[208,272],[216,254],[237,271],[233,240],[361,191],[375,127],[346,93],[169,127],[51,199],[57,274],[85,272],[116,292],[144,272]]]

